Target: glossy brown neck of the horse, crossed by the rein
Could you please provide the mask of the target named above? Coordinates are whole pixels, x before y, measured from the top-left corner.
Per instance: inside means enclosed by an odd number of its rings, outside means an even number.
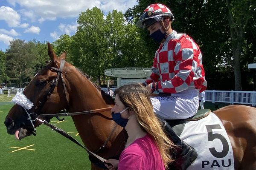
[[[69,84],[69,112],[89,111],[107,108],[99,90],[82,74],[67,77]],[[72,116],[83,143],[90,150],[97,150],[109,135],[113,121],[110,111],[88,115]]]

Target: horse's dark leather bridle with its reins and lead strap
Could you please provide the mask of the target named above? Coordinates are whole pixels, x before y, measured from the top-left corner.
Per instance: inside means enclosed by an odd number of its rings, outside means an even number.
[[[95,153],[98,153],[99,151],[101,151],[102,149],[104,149],[106,147],[106,145],[108,144],[108,141],[110,140],[111,136],[113,135],[114,133],[114,130],[116,129],[117,127],[117,124],[115,124],[111,130],[111,133],[109,134],[108,138],[105,140],[104,144],[99,147],[98,150],[96,151],[93,151],[91,152],[90,150],[88,150],[84,145],[82,145],[81,143],[79,143],[76,139],[74,139],[72,136],[70,136],[68,133],[66,133],[64,130],[56,127],[55,125],[52,125],[50,123],[48,123],[46,120],[41,120],[41,119],[38,119],[40,117],[47,117],[47,116],[52,116],[52,117],[56,117],[58,120],[60,120],[58,118],[58,116],[75,116],[75,115],[81,115],[81,114],[91,114],[91,113],[100,113],[100,112],[103,112],[103,111],[110,111],[111,108],[113,107],[108,107],[108,108],[101,108],[101,109],[95,109],[95,110],[92,110],[92,111],[82,111],[82,112],[73,112],[73,113],[56,113],[56,114],[39,114],[41,109],[44,107],[45,103],[47,102],[47,100],[49,99],[49,97],[51,96],[52,92],[54,91],[55,87],[58,85],[58,81],[59,79],[61,78],[61,81],[63,83],[63,88],[64,88],[64,95],[65,95],[65,99],[66,99],[66,102],[67,104],[69,103],[69,98],[67,96],[67,88],[66,88],[66,85],[65,85],[65,81],[64,81],[64,78],[63,78],[63,68],[64,68],[64,63],[65,63],[65,60],[64,59],[61,59],[61,64],[60,64],[60,68],[55,68],[55,67],[50,67],[50,69],[53,69],[55,71],[58,71],[58,74],[57,76],[55,77],[54,80],[52,80],[48,90],[46,91],[46,95],[43,96],[40,100],[39,100],[39,104],[37,106],[35,106],[35,112],[34,113],[29,113],[26,108],[22,107],[26,113],[27,113],[27,120],[29,120],[32,124],[32,127],[33,127],[33,131],[32,131],[32,134],[35,136],[35,126],[34,126],[34,123],[35,121],[38,121],[40,122],[41,124],[44,124],[44,125],[47,125],[48,127],[50,127],[52,130],[55,130],[56,132],[60,133],[62,136],[70,139],[72,142],[78,144],[80,147],[84,148],[85,150],[87,150],[87,152],[89,154],[92,154],[93,156],[96,156],[96,158],[102,160],[101,157],[97,156]],[[61,120],[60,120],[61,121]]]

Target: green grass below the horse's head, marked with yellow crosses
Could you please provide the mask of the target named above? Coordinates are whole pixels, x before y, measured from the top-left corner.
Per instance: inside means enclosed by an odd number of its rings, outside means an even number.
[[[3,122],[12,105],[0,105],[0,170],[90,170],[87,152],[47,126],[37,127],[37,136],[29,136],[21,141],[7,134]],[[55,124],[66,132],[77,132],[71,117],[67,117],[65,122],[68,123]],[[70,135],[81,142],[76,134]],[[32,144],[34,146],[28,149],[35,151],[18,150],[11,153],[17,150],[12,147],[26,147]]]

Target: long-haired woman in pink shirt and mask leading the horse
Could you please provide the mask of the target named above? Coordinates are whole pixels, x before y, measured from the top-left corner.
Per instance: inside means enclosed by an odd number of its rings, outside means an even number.
[[[139,84],[115,91],[113,120],[128,133],[119,160],[105,161],[109,170],[165,170],[173,161],[169,152],[175,145],[168,139],[154,115],[149,92]]]

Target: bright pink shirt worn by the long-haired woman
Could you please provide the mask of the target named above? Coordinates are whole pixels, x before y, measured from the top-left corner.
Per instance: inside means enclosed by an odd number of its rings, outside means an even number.
[[[149,134],[122,151],[118,170],[165,170],[157,145]]]

